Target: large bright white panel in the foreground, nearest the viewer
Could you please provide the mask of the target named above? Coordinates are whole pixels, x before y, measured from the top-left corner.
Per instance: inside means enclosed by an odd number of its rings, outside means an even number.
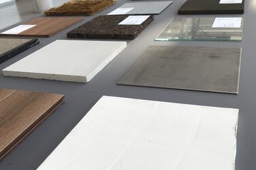
[[[102,97],[39,170],[234,170],[238,109]]]

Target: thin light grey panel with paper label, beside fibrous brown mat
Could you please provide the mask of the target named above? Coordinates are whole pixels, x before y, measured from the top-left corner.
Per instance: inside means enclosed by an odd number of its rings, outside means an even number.
[[[125,3],[108,15],[160,14],[172,1],[148,1]]]

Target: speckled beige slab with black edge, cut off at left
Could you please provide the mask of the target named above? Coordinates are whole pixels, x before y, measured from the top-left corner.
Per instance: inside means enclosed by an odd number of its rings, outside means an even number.
[[[37,44],[38,39],[0,38],[0,64]]]

